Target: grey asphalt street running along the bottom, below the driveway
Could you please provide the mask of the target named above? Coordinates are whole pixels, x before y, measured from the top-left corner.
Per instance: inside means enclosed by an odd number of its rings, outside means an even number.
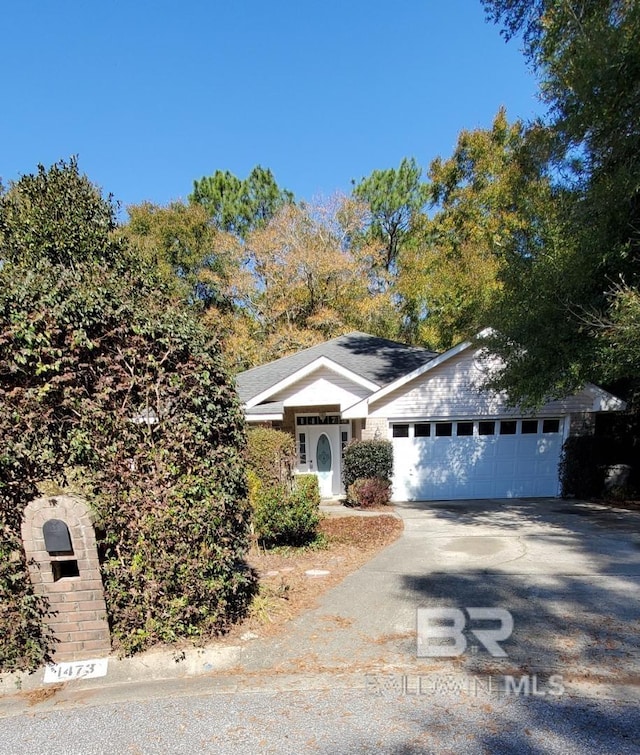
[[[365,686],[358,686],[364,681]],[[610,753],[640,750],[636,704],[434,691],[384,675],[297,689],[208,691],[1,720],[0,752]],[[399,686],[399,689],[398,689]],[[166,690],[170,692],[170,690]],[[133,690],[132,690],[133,692]]]

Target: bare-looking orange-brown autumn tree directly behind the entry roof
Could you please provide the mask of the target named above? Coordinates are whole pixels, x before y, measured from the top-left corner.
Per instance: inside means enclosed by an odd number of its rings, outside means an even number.
[[[388,335],[397,315],[388,292],[369,288],[369,254],[350,240],[365,209],[336,197],[285,205],[247,237],[247,279],[241,309],[249,313],[258,361],[284,356],[349,330]]]

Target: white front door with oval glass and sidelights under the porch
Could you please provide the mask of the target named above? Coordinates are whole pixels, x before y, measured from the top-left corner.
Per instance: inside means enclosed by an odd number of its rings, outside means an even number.
[[[315,474],[322,498],[342,491],[342,448],[351,438],[350,424],[339,415],[299,415],[296,421],[296,472]]]

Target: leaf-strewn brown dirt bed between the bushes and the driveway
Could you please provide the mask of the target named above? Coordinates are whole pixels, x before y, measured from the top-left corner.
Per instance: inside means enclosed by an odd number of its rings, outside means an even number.
[[[320,595],[390,545],[402,532],[402,521],[390,514],[327,517],[320,523],[322,548],[260,550],[249,563],[260,576],[260,592],[251,614],[225,636],[234,643],[251,635],[273,636],[288,621],[315,605]],[[328,571],[307,576],[307,571]],[[335,625],[340,626],[340,617]]]

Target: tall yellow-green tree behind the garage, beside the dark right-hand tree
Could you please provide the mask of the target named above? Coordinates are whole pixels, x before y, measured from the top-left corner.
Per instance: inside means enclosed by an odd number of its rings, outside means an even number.
[[[414,339],[448,349],[488,324],[510,257],[538,254],[551,202],[544,140],[500,110],[490,129],[462,131],[429,168],[434,213],[399,255],[397,290]]]

